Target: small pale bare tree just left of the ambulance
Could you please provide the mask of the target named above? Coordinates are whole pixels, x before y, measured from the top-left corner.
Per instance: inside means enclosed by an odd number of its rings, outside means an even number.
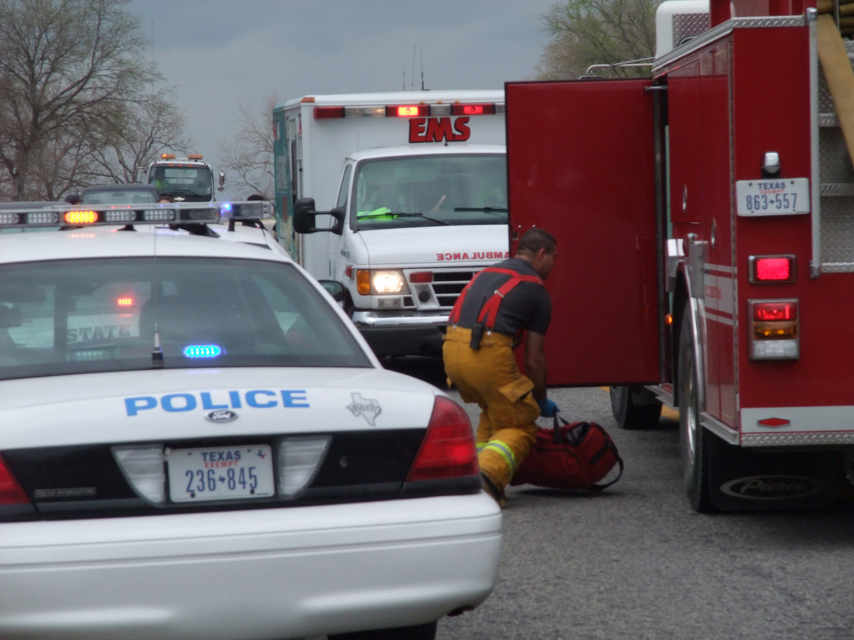
[[[272,200],[272,109],[277,103],[278,97],[272,95],[263,98],[259,112],[237,105],[240,130],[231,142],[219,144],[220,166],[228,171],[231,189]]]

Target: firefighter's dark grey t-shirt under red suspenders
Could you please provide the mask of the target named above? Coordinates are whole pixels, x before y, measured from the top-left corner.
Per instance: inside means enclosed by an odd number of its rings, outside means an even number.
[[[509,258],[494,266],[499,269],[512,269],[524,276],[537,275],[534,266],[521,258]],[[493,296],[495,290],[509,279],[510,276],[504,273],[478,273],[465,294],[458,325],[464,329],[474,327],[483,305]],[[551,319],[552,299],[546,288],[536,282],[519,282],[506,294],[504,300],[501,300],[493,331],[516,335],[519,329],[528,329],[537,334],[545,334]]]

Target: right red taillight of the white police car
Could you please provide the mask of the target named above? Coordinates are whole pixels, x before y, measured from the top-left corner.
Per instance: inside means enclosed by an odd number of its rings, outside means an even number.
[[[477,476],[477,450],[469,416],[451,399],[438,397],[407,482]]]

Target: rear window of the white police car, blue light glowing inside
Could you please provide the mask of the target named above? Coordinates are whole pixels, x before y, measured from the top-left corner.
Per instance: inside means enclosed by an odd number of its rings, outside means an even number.
[[[0,379],[166,369],[369,367],[292,265],[75,259],[0,265]]]

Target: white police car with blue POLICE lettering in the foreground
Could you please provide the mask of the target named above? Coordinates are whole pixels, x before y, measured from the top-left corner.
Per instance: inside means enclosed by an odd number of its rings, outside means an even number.
[[[434,637],[492,590],[465,412],[220,207],[0,210],[46,229],[0,234],[0,637]]]

